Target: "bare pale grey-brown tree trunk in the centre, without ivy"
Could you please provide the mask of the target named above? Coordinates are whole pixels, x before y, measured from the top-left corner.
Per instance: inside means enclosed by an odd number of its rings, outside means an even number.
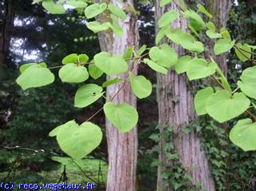
[[[125,0],[122,2],[112,0],[110,2],[118,5],[123,10],[125,7],[134,7],[133,0]],[[111,54],[123,54],[129,46],[134,46],[135,49],[138,49],[138,23],[134,13],[128,12],[126,20],[119,22],[119,24],[124,32],[122,38],[118,38],[115,34],[110,32],[99,34],[102,50],[108,51]],[[137,74],[137,66],[130,64],[129,70],[134,70],[134,73]],[[111,78],[126,78],[127,76],[128,73],[112,76]],[[121,86],[122,83],[108,86],[106,89],[107,97],[113,97]],[[136,97],[132,94],[130,86],[126,85],[119,92],[118,96],[114,98],[114,102],[116,104],[127,102],[136,107]],[[106,138],[109,157],[106,190],[134,191],[138,155],[137,127],[134,127],[129,133],[120,133],[110,121],[106,120]]]

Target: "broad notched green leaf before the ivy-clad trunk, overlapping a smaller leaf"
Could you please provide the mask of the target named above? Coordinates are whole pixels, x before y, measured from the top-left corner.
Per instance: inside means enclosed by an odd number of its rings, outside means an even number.
[[[190,80],[206,78],[216,71],[216,63],[210,62],[209,64],[203,58],[192,59],[186,67],[186,75]]]

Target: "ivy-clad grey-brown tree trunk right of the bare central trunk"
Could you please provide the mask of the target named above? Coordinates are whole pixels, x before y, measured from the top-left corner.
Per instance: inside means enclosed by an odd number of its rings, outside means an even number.
[[[155,1],[155,19],[158,23],[158,19],[162,16],[166,10],[177,10],[177,7],[172,3],[170,7],[161,8],[159,1]],[[186,30],[186,21],[177,19],[173,23],[174,28],[182,28]],[[156,24],[156,32],[158,33],[158,27]],[[178,55],[183,55],[184,50],[181,47],[172,44]],[[202,189],[207,191],[214,191],[214,180],[210,173],[210,167],[206,158],[206,154],[202,147],[202,143],[198,137],[198,134],[194,129],[190,129],[190,133],[184,133],[182,127],[189,125],[190,121],[194,120],[194,106],[193,96],[190,90],[187,89],[186,77],[184,75],[175,74],[174,71],[169,71],[167,75],[158,74],[158,114],[159,123],[162,126],[169,125],[174,129],[174,147],[180,157],[180,162],[183,167],[192,175],[192,182],[201,183]],[[166,94],[166,90],[169,90],[170,94]],[[178,101],[174,101],[174,98],[178,98]],[[163,137],[166,129],[161,128],[160,134]],[[165,140],[162,138],[160,141],[161,150],[166,145]],[[159,160],[165,164],[169,161],[166,159],[165,153],[162,151],[159,153]],[[164,167],[158,167],[158,190],[171,190],[170,186],[164,185],[161,177]]]

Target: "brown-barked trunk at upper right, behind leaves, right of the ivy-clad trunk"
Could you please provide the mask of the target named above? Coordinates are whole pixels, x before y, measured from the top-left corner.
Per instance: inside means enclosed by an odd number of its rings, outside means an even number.
[[[216,30],[220,30],[222,27],[226,27],[226,22],[229,18],[231,2],[230,0],[205,0],[206,10],[213,14],[213,22],[216,26]],[[206,44],[209,48],[208,54],[210,54],[214,60],[218,63],[218,66],[223,71],[223,74],[227,74],[226,54],[214,56],[214,43],[215,39],[207,39]],[[206,55],[208,57],[209,55]]]

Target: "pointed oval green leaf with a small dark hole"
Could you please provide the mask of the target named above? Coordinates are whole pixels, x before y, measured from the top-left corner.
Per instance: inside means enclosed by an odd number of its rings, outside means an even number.
[[[96,84],[86,84],[81,86],[74,96],[75,107],[86,107],[102,97],[102,87]]]

